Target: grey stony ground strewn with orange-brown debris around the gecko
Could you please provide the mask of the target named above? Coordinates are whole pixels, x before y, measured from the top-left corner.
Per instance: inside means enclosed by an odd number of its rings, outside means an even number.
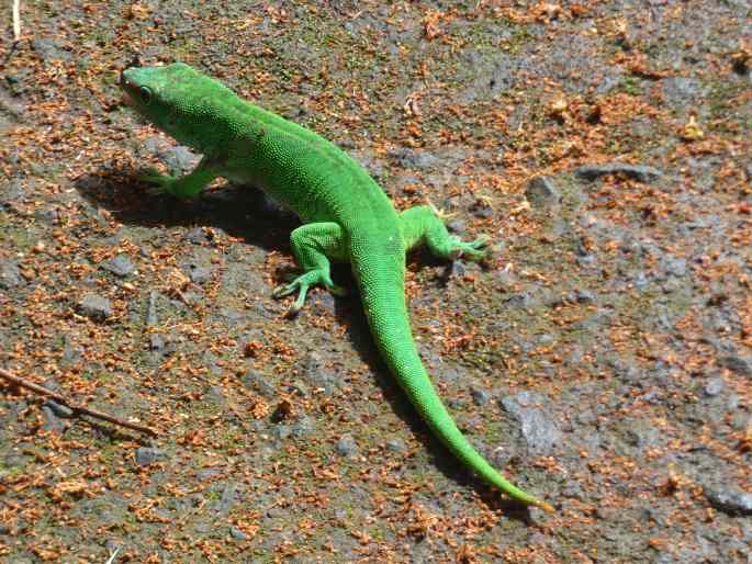
[[[0,561],[752,562],[747,1],[24,0],[18,42],[2,10],[0,368],[157,435],[0,384]],[[123,106],[136,54],[493,237],[411,257],[412,323],[554,515],[430,437],[357,295],[284,317],[293,217],[137,180],[195,156]]]

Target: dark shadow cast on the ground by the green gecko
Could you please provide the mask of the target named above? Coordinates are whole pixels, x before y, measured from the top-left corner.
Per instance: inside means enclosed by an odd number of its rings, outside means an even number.
[[[76,189],[92,207],[105,210],[123,225],[147,228],[212,227],[244,244],[288,255],[291,253],[290,232],[300,225],[292,213],[271,202],[260,190],[248,187],[228,184],[204,192],[193,200],[177,201],[172,196],[154,195],[146,191],[136,179],[135,171],[109,171],[101,176],[81,177],[76,182]],[[446,285],[451,263],[434,258],[426,249],[412,252],[408,261],[416,261],[419,268],[434,268],[442,272],[436,280],[437,284]],[[285,273],[289,272],[277,272],[280,283]],[[402,393],[375,348],[349,266],[333,264],[333,278],[349,291],[347,296],[334,301],[337,323],[346,327],[347,337],[360,360],[371,366],[375,384],[390,408],[430,453],[430,463],[452,482],[476,490],[490,509],[503,510],[514,519],[529,522],[528,509],[504,498],[473,476],[433,435]],[[427,370],[430,375],[430,369]]]

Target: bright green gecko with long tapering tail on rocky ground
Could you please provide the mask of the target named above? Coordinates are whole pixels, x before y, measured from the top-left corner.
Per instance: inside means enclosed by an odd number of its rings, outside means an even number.
[[[131,67],[120,81],[126,102],[156,127],[203,155],[180,178],[144,177],[162,192],[190,198],[217,177],[262,189],[292,210],[302,226],[291,234],[303,273],[274,291],[298,292],[292,311],[308,289],[335,294],[329,261],[347,261],[377,347],[401,387],[434,433],[469,469],[509,497],[553,507],[506,481],[470,444],[441,403],[418,357],[405,303],[405,252],[427,245],[436,257],[481,259],[487,239],[463,242],[450,236],[431,206],[397,213],[366,170],[319,135],[250,104],[221,82],[188,65]]]

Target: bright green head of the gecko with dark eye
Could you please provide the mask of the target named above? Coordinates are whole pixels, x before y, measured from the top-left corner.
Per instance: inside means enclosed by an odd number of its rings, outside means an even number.
[[[178,142],[197,147],[206,134],[212,100],[225,88],[183,63],[161,67],[132,64],[120,75],[125,102]],[[211,122],[210,122],[211,123]],[[211,126],[209,128],[211,131]]]

